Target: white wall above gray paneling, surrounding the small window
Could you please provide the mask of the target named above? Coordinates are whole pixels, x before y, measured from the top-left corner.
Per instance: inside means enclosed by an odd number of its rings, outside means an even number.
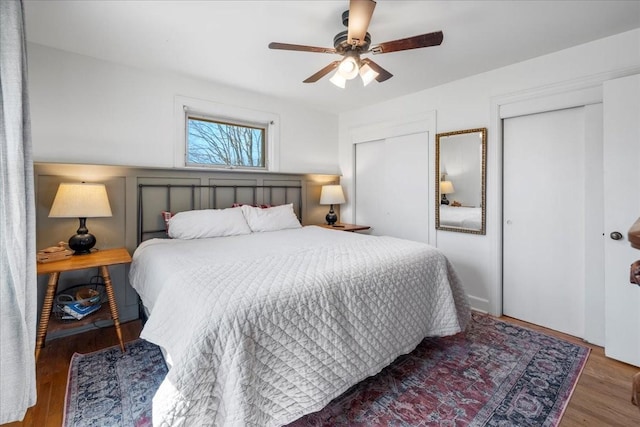
[[[27,46],[38,162],[174,167],[174,98],[273,113],[280,119],[280,172],[338,173],[338,117],[281,99]]]

